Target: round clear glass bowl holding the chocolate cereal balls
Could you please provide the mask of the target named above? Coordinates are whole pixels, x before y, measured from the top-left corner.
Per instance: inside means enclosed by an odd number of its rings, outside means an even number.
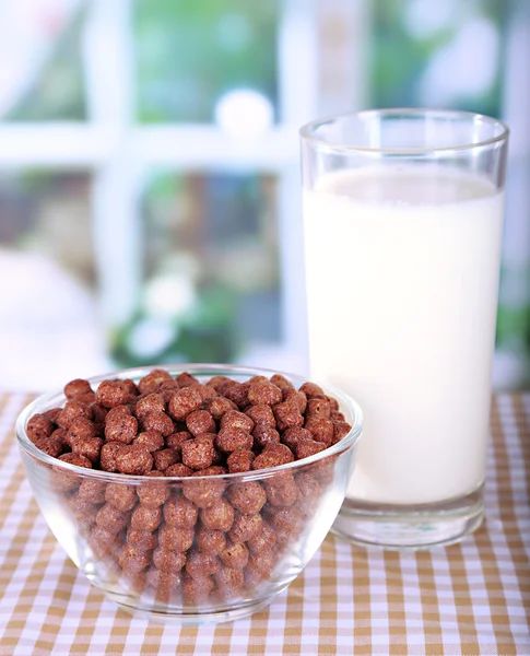
[[[157,368],[174,376],[189,372],[201,382],[215,375],[245,382],[275,373],[209,364]],[[151,370],[126,370],[90,382],[94,389],[109,377],[138,382]],[[284,375],[296,387],[306,380]],[[352,424],[350,433],[309,458],[245,473],[146,478],[85,469],[52,458],[30,441],[25,429],[33,414],[62,406],[62,393],[42,396],[27,406],[17,419],[16,435],[46,522],[94,586],[125,610],[153,619],[178,623],[228,621],[266,607],[288,586],[320,547],[344,500],[362,413],[345,394],[322,387],[339,401],[345,420]],[[293,481],[298,488],[294,503],[288,493],[275,493],[285,487],[292,489]],[[116,511],[116,505],[106,502],[110,493],[114,500],[122,497],[125,507],[136,505]],[[236,547],[231,546],[229,553],[223,552],[224,560],[214,555],[223,537],[204,534],[200,520],[204,511],[188,499],[204,505],[202,500],[208,495],[213,495],[214,504],[220,499],[228,500],[236,507],[236,517],[245,515],[236,535],[231,534],[237,538]],[[264,505],[254,512],[256,502],[259,505],[264,496]],[[128,502],[130,499],[133,501]],[[134,515],[144,503],[145,516],[143,507]],[[242,513],[242,508],[250,512]],[[163,540],[164,549],[158,549],[158,540]],[[176,543],[178,548],[170,551]],[[210,557],[204,558],[209,551]]]

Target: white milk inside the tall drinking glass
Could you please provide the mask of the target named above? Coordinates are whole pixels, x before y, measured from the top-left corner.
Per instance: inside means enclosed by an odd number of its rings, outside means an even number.
[[[503,197],[444,167],[304,192],[311,376],[361,405],[348,496],[421,504],[484,479]]]

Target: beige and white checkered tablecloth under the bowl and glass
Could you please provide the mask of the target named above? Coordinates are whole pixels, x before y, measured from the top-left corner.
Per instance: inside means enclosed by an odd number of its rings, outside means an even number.
[[[485,524],[419,553],[329,536],[304,574],[247,620],[178,628],[131,619],[78,573],[32,499],[0,395],[0,656],[52,654],[530,655],[530,396],[500,396]]]

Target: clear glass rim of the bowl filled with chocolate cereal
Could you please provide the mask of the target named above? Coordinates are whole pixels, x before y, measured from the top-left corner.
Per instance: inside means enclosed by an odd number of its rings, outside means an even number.
[[[177,364],[161,364],[161,365],[146,365],[140,367],[125,368],[113,371],[107,374],[101,374],[97,376],[92,376],[86,378],[89,383],[98,384],[103,380],[107,380],[109,378],[141,378],[145,374],[152,372],[153,370],[163,370],[167,371],[172,374],[172,376],[176,376],[180,373],[190,373],[195,375],[266,375],[269,374],[279,374],[285,376],[287,379],[291,378],[305,378],[307,377],[301,374],[292,374],[287,372],[279,372],[276,370],[269,370],[257,366],[244,366],[244,365],[234,365],[234,364],[210,364],[210,363],[177,363]],[[294,460],[293,462],[287,462],[285,465],[279,465],[276,467],[268,467],[266,469],[257,469],[244,472],[235,472],[235,473],[219,473],[213,476],[173,476],[173,477],[149,477],[149,476],[131,476],[128,473],[120,472],[110,472],[104,471],[99,469],[90,469],[86,467],[79,467],[78,465],[72,465],[70,462],[64,462],[63,460],[59,460],[59,458],[54,458],[48,454],[42,452],[33,442],[31,442],[26,432],[26,424],[28,419],[36,413],[46,411],[48,405],[52,401],[57,401],[58,403],[62,403],[66,400],[66,396],[62,390],[60,391],[51,391],[39,395],[36,399],[34,399],[31,403],[28,403],[16,418],[15,431],[16,431],[16,441],[19,447],[25,452],[26,454],[33,456],[36,460],[49,465],[54,467],[54,469],[72,471],[80,476],[92,478],[94,480],[105,481],[105,482],[120,482],[120,483],[145,483],[145,481],[165,481],[165,482],[174,482],[181,483],[184,481],[202,481],[202,480],[229,480],[229,481],[245,481],[250,482],[255,480],[262,480],[267,478],[271,478],[276,476],[279,472],[296,470],[305,467],[306,465],[311,465],[314,462],[318,462],[325,458],[330,456],[335,456],[346,450],[353,449],[353,447],[358,442],[362,432],[363,432],[363,411],[361,410],[358,403],[354,401],[348,394],[338,389],[337,387],[329,385],[328,383],[319,382],[319,380],[310,380],[311,383],[316,383],[320,385],[322,389],[328,395],[332,395],[340,403],[343,403],[350,410],[353,423],[350,432],[344,435],[342,440],[333,444],[332,446],[325,448],[318,454],[314,454],[308,458],[303,458],[301,460]]]

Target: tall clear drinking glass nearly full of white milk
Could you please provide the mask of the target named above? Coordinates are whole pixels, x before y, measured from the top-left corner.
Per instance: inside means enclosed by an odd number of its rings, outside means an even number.
[[[384,109],[301,133],[310,373],[365,415],[333,529],[458,541],[483,517],[508,129]]]

